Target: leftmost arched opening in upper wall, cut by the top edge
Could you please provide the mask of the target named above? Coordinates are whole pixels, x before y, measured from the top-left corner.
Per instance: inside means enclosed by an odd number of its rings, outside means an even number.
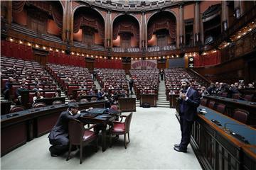
[[[60,1],[13,1],[13,22],[38,34],[61,38],[63,7]]]

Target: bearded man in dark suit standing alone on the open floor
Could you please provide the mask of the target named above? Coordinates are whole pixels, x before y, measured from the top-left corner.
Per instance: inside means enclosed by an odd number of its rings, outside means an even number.
[[[196,108],[200,105],[198,91],[189,86],[188,79],[181,80],[183,90],[179,94],[178,103],[180,104],[180,124],[181,124],[181,143],[174,145],[174,150],[186,152],[191,138],[191,128],[196,119]]]

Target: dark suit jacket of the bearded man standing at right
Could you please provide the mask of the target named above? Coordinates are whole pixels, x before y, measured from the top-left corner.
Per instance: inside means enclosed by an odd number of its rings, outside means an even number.
[[[188,121],[193,121],[195,120],[197,114],[196,108],[200,105],[200,96],[198,91],[190,88],[188,89],[187,97],[187,101],[183,101],[183,99],[178,98],[180,108],[181,105],[183,105],[184,110],[183,113],[180,112],[180,116]]]

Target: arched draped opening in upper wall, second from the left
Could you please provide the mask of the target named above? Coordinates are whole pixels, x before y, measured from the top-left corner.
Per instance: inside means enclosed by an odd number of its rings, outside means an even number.
[[[81,42],[89,47],[104,47],[105,21],[92,8],[78,8],[74,13],[74,42]]]

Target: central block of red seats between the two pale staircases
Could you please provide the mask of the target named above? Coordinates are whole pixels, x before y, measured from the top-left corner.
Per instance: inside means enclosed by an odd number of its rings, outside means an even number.
[[[159,69],[132,69],[130,74],[134,79],[134,91],[138,99],[140,94],[158,94]]]

